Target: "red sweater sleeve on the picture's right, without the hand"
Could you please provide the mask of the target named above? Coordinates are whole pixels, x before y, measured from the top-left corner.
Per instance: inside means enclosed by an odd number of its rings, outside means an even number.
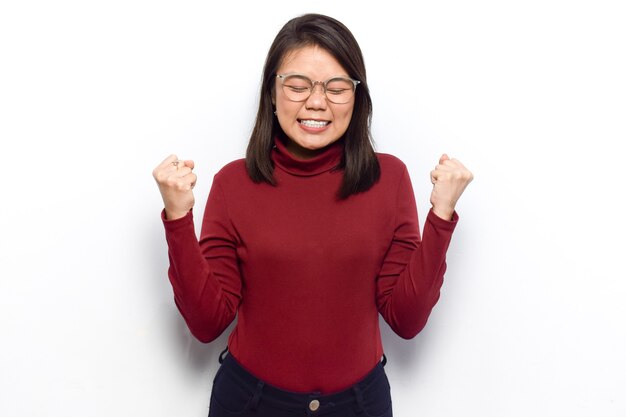
[[[429,211],[420,239],[415,197],[405,168],[396,195],[396,220],[376,286],[378,310],[400,337],[415,337],[439,299],[446,251],[458,221]]]

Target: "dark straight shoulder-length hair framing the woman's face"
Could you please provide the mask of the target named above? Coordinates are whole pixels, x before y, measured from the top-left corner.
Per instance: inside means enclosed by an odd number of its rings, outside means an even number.
[[[246,151],[248,175],[254,182],[276,184],[271,152],[274,138],[284,134],[274,116],[272,94],[276,71],[283,58],[304,46],[328,51],[351,78],[360,81],[354,97],[354,110],[343,135],[344,152],[337,166],[343,170],[338,195],[346,199],[371,188],[380,178],[380,166],[372,146],[372,99],[367,86],[361,48],[350,30],[338,20],[320,14],[306,14],[287,22],[278,32],[265,60],[259,109]]]

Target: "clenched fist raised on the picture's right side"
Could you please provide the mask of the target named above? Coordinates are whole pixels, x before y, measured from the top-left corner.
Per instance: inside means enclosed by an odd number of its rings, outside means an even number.
[[[446,154],[441,155],[439,165],[430,172],[430,181],[433,183],[430,204],[433,205],[433,212],[442,219],[452,220],[456,202],[473,179],[474,175],[461,161],[450,159]]]

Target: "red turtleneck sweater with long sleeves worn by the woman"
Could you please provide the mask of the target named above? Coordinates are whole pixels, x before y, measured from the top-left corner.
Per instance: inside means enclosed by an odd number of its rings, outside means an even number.
[[[349,387],[378,363],[378,314],[403,338],[439,298],[457,216],[429,212],[420,239],[405,165],[378,154],[380,181],[336,198],[343,146],[299,160],[276,141],[276,186],[244,160],[214,177],[196,238],[192,213],[164,220],[176,305],[201,341],[237,315],[230,353],[267,383],[295,392]]]

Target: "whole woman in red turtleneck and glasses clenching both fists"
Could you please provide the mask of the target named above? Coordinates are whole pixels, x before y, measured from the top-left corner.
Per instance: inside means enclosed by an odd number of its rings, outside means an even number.
[[[472,174],[441,157],[420,239],[407,168],[374,153],[371,113],[350,31],[304,15],[268,52],[246,158],[215,175],[199,241],[194,163],[155,168],[189,329],[210,342],[238,317],[210,416],[391,416],[378,314],[403,338],[423,328]]]

